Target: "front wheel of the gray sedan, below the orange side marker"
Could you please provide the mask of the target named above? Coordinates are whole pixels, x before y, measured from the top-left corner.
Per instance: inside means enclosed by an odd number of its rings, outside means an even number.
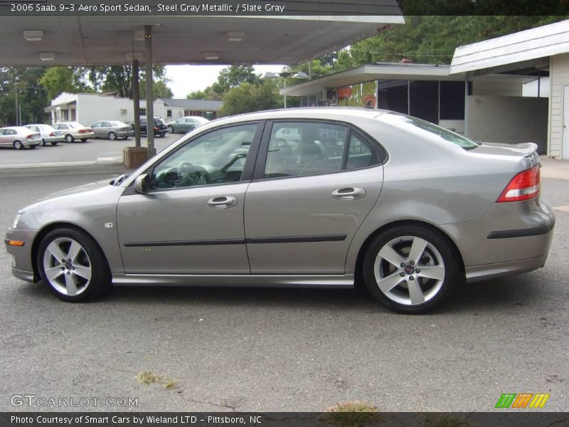
[[[90,236],[74,228],[47,233],[41,239],[36,263],[43,282],[64,301],[91,300],[111,287],[105,255]]]

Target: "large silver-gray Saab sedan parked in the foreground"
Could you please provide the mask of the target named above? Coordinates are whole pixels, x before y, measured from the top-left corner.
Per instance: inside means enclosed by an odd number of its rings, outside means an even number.
[[[275,110],[202,125],[131,174],[26,206],[6,246],[17,278],[68,301],[111,285],[363,282],[418,313],[544,265],[555,219],[539,190],[536,144],[479,144],[382,110]]]

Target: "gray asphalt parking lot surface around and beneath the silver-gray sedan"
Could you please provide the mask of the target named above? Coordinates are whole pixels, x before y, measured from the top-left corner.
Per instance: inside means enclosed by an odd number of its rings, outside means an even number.
[[[169,139],[156,141],[161,147]],[[70,159],[76,149],[118,157],[128,144],[93,140],[2,154],[11,163],[39,154],[43,161],[55,150]],[[44,194],[122,169],[1,170],[0,228]],[[544,198],[569,205],[567,180],[542,181]],[[441,310],[420,316],[395,314],[351,290],[116,288],[70,304],[12,277],[3,246],[0,410],[58,409],[11,404],[11,396],[35,395],[137,399],[136,406],[87,406],[97,411],[320,411],[354,400],[381,411],[492,411],[502,393],[531,392],[551,394],[544,410],[563,411],[569,214],[556,216],[545,268],[464,286]],[[174,386],[140,384],[142,371]]]

